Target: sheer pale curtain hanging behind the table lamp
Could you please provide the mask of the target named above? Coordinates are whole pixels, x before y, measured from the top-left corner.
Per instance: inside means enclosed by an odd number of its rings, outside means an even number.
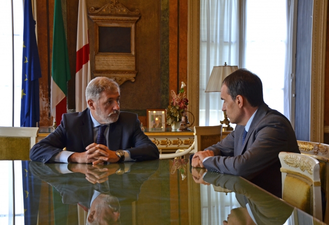
[[[215,126],[224,119],[220,92],[205,93],[214,66],[238,65],[238,1],[200,1],[199,125]]]

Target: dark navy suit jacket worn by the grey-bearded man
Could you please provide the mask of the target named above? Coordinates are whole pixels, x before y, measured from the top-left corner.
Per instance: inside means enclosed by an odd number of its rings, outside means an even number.
[[[67,151],[84,152],[94,143],[93,122],[89,108],[80,113],[63,114],[57,129],[30,151],[33,161],[49,162],[50,158],[66,147]],[[109,127],[108,148],[130,151],[137,161],[159,158],[159,150],[140,128],[136,114],[121,112],[118,120]]]

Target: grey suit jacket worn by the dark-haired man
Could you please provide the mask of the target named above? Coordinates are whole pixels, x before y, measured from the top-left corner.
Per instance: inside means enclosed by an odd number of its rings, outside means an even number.
[[[263,103],[258,107],[242,145],[244,126],[237,125],[225,139],[207,148],[218,157],[203,165],[209,171],[241,176],[281,197],[279,152],[300,153],[291,123]]]

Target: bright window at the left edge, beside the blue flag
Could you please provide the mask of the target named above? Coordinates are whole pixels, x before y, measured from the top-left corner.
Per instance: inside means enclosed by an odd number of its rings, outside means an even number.
[[[0,20],[6,21],[0,23],[0,96],[3,109],[0,111],[0,126],[20,127],[23,1],[13,0],[12,7],[11,1],[6,0],[3,7],[13,10],[4,10],[0,14]]]

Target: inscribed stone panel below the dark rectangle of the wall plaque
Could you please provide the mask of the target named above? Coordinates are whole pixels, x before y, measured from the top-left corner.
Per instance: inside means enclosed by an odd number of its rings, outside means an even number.
[[[96,70],[135,70],[135,57],[121,55],[95,55]]]

